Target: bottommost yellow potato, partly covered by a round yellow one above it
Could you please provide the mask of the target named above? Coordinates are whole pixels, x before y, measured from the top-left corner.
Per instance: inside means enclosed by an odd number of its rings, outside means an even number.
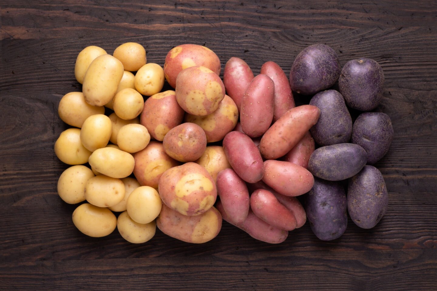
[[[145,243],[155,236],[156,221],[153,220],[146,224],[137,223],[125,211],[118,216],[117,229],[129,243]]]

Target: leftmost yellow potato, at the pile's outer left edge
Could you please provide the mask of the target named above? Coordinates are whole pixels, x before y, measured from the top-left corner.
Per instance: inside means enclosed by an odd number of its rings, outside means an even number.
[[[80,129],[69,128],[56,140],[55,154],[63,163],[77,165],[85,164],[92,153],[80,141]]]

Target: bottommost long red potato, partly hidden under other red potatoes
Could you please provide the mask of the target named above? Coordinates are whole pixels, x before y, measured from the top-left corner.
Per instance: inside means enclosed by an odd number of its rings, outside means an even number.
[[[271,226],[256,216],[252,210],[249,210],[249,214],[243,223],[234,224],[226,215],[221,201],[217,202],[215,208],[217,208],[217,210],[222,214],[222,217],[225,221],[233,226],[238,227],[239,229],[242,229],[256,240],[260,240],[265,243],[282,243],[288,237],[287,230]]]

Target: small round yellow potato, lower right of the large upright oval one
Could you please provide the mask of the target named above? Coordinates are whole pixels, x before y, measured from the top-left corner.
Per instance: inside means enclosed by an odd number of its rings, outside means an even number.
[[[115,94],[112,106],[118,117],[131,120],[141,113],[144,107],[144,99],[135,89],[126,88]]]

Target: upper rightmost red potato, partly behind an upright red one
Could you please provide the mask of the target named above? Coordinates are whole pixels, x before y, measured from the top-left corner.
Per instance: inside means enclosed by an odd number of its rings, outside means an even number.
[[[288,110],[295,107],[290,82],[281,67],[272,61],[265,62],[261,66],[261,74],[269,76],[274,82],[273,121],[276,121]]]

